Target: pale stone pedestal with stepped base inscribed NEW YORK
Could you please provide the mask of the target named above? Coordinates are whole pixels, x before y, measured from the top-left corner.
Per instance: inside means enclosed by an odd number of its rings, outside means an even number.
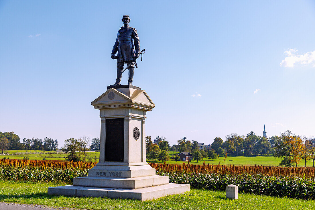
[[[91,103],[100,110],[100,162],[73,185],[50,187],[49,195],[130,198],[146,201],[189,191],[189,184],[169,184],[146,163],[146,111],[155,105],[132,85],[107,87]]]

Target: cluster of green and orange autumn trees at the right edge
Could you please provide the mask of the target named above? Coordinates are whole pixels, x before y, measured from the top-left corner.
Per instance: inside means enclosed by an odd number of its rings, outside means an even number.
[[[301,160],[305,161],[305,167],[307,160],[315,161],[315,145],[311,140],[314,137],[305,136],[299,137],[291,131],[285,131],[278,137],[278,141],[275,143],[274,157],[280,157],[283,160],[280,162],[280,166],[291,166],[292,164],[297,166]]]

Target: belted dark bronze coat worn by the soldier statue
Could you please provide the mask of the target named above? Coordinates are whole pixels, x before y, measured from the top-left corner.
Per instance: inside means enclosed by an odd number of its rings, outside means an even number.
[[[132,39],[135,45],[132,43]],[[119,62],[129,63],[130,61],[136,61],[136,54],[139,55],[140,53],[140,41],[135,28],[123,26],[118,30],[112,54],[116,54],[117,51],[117,67]]]

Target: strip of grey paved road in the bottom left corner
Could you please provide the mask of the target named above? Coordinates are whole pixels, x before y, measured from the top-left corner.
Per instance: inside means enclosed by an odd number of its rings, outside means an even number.
[[[75,210],[74,208],[45,207],[41,205],[0,203],[0,210]]]

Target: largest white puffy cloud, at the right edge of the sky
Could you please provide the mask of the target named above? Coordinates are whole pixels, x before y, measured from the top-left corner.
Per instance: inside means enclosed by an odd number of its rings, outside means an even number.
[[[296,49],[289,49],[284,52],[287,56],[280,63],[281,67],[294,67],[295,64],[308,65],[315,67],[315,50],[299,55]]]

